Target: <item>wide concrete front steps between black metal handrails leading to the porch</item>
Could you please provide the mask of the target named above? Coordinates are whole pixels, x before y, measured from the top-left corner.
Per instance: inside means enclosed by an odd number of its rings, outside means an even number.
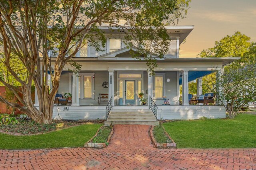
[[[128,125],[159,125],[154,113],[148,107],[116,107],[111,109],[108,115],[108,121],[105,125],[128,124]]]

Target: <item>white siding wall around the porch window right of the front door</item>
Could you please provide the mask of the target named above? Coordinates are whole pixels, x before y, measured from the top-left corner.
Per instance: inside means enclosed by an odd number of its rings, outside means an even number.
[[[170,82],[166,81],[167,78],[170,79]],[[154,82],[154,77],[153,77],[153,82]],[[165,84],[164,96],[166,96],[166,99],[169,99],[170,104],[176,104],[177,103],[177,72],[176,71],[165,72],[164,84]],[[154,94],[154,87],[153,87],[153,94]],[[162,98],[154,99],[154,102],[157,105],[161,105],[164,103],[164,100]]]

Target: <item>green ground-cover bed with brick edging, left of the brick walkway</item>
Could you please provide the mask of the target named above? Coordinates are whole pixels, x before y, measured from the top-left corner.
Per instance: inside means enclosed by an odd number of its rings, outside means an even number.
[[[110,126],[104,126],[100,128],[97,136],[94,137],[92,141],[94,143],[105,143],[108,146],[108,136],[110,135],[111,130],[112,130],[112,127]]]

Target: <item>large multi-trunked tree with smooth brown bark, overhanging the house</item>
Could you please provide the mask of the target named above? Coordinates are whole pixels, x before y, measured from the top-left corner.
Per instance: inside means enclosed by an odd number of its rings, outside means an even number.
[[[87,43],[96,51],[105,47],[102,24],[124,32],[127,48],[136,46],[140,53],[130,50],[133,57],[144,56],[148,70],[153,73],[157,64],[152,54],[162,58],[168,51],[170,36],[164,23],[170,23],[174,10],[176,0],[0,0],[0,52],[4,66],[21,84],[23,94],[23,98],[20,97],[20,90],[5,81],[0,73],[0,82],[22,105],[2,96],[0,102],[26,113],[38,123],[52,123],[54,98],[64,66]],[[120,24],[120,20],[126,23]],[[50,51],[55,54],[54,61]],[[13,69],[13,55],[27,70],[25,79]],[[79,68],[77,64],[73,67]],[[50,90],[48,76],[52,83]],[[32,101],[33,82],[39,109]]]

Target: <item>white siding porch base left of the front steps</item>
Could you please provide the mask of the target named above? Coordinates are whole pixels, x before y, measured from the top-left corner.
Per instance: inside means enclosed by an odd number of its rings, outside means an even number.
[[[63,110],[64,107],[68,107],[68,110]],[[52,117],[72,120],[106,119],[106,106],[54,106]]]

